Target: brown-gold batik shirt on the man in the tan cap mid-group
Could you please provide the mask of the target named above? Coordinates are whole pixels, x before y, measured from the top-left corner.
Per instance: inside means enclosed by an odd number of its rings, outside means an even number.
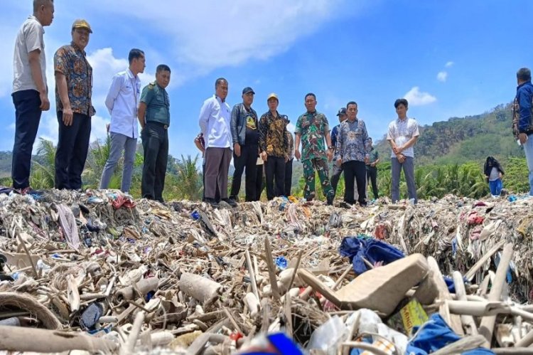
[[[287,139],[287,125],[285,116],[276,117],[272,112],[265,112],[259,120],[259,148],[269,157],[289,157],[289,141]]]

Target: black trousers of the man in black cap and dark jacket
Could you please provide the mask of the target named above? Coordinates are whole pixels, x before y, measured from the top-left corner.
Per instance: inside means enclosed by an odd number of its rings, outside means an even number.
[[[246,191],[246,201],[255,201],[257,194],[255,187],[255,179],[257,176],[257,145],[242,145],[241,156],[237,157],[235,151],[233,152],[233,165],[235,171],[233,172],[232,189],[230,198],[237,198],[239,190],[241,189],[241,179],[244,168],[246,168],[246,181],[244,181],[244,191]]]

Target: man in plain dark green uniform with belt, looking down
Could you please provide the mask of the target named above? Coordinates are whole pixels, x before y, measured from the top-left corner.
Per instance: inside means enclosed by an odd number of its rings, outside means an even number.
[[[170,81],[171,68],[158,65],[156,81],[146,85],[141,93],[138,114],[144,149],[141,196],[161,202],[168,162],[168,126],[171,124],[170,101],[165,88]]]

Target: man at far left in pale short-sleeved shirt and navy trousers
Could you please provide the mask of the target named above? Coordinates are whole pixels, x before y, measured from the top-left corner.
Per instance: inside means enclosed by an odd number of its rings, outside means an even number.
[[[23,194],[30,189],[31,152],[41,112],[50,110],[43,33],[53,18],[53,0],[33,0],[33,16],[24,21],[15,41],[12,96],[16,121],[11,179],[13,187]]]

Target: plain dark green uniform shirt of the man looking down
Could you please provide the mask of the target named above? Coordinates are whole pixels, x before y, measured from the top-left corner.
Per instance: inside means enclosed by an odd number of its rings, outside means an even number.
[[[171,101],[164,88],[161,88],[155,81],[149,83],[143,88],[141,102],[146,104],[144,122],[157,122],[170,126]]]

